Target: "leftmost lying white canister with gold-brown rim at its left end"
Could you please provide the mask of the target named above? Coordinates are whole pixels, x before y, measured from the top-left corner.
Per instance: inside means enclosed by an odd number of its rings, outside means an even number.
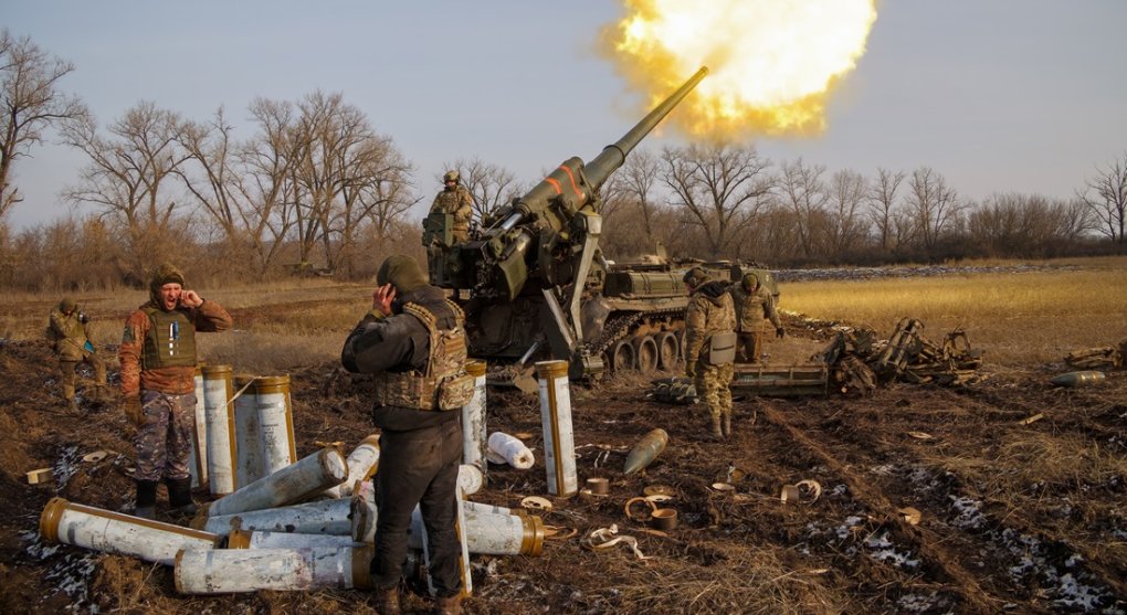
[[[215,549],[223,536],[52,498],[39,516],[39,534],[52,543],[132,555],[171,565],[176,552]]]

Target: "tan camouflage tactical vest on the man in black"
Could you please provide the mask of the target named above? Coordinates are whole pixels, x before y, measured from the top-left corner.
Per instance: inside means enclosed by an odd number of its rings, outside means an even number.
[[[446,300],[454,312],[454,328],[440,330],[437,319],[417,303],[403,305],[403,313],[417,318],[431,335],[426,369],[382,372],[375,376],[375,400],[381,405],[416,410],[459,410],[473,396],[473,376],[465,372],[465,314]]]

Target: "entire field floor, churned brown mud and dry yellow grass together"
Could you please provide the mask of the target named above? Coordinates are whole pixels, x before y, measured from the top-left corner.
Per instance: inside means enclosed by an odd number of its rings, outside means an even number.
[[[980,382],[890,382],[871,394],[766,399],[737,395],[734,435],[703,440],[701,405],[647,398],[649,382],[619,375],[575,384],[580,481],[610,479],[603,500],[556,498],[545,524],[562,534],[540,556],[474,556],[468,613],[996,614],[1127,612],[1127,373],[1091,387],[1057,387],[1062,357],[1127,339],[1127,259],[1046,264],[1029,271],[801,282],[781,287],[789,335],[772,364],[824,347],[827,322],[886,337],[898,319],[940,339],[961,327],[985,351]],[[202,336],[208,363],[293,378],[299,455],[317,442],[357,443],[373,430],[371,380],[338,369],[340,344],[370,305],[360,284],[197,288],[227,306],[236,330]],[[177,592],[170,568],[39,540],[52,497],[127,510],[131,428],[113,400],[69,411],[41,335],[57,296],[0,295],[0,604],[10,613],[374,613],[366,592]],[[140,291],[79,295],[95,341],[113,349]],[[110,377],[115,362],[110,360]],[[474,499],[514,507],[547,493],[534,396],[489,392],[489,430],[529,434],[530,471],[491,466]],[[1032,419],[1032,420],[1031,420]],[[644,472],[621,472],[654,427],[669,445]],[[921,436],[922,435],[922,436]],[[115,452],[97,463],[83,453]],[[24,472],[65,469],[27,484]],[[737,469],[735,491],[710,488]],[[783,484],[815,480],[816,501],[783,503]],[[672,487],[681,525],[656,532],[623,516],[647,485]],[[208,496],[198,493],[206,501]],[[163,500],[163,497],[161,498]],[[900,510],[919,511],[919,524]],[[162,520],[184,523],[159,509]],[[616,525],[628,549],[582,538]],[[570,532],[574,532],[571,534]],[[425,603],[407,600],[408,613]]]

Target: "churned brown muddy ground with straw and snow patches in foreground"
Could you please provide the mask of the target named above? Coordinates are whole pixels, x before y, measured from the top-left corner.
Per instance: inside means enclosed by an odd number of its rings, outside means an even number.
[[[822,344],[824,332],[791,324],[797,335],[773,346],[775,362],[788,345],[802,354]],[[476,555],[467,612],[1124,613],[1127,373],[1092,387],[1048,383],[1065,371],[1001,369],[987,357],[986,377],[969,386],[737,393],[735,433],[724,443],[701,437],[702,405],[647,399],[647,378],[574,386],[578,473],[610,479],[610,494],[554,500],[543,520],[560,533],[540,556]],[[45,342],[0,340],[0,610],[374,612],[360,590],[179,596],[169,568],[44,544],[37,528],[50,498],[121,510],[133,497],[128,428],[116,403],[83,399],[70,411],[55,377]],[[350,448],[373,431],[367,382],[331,364],[292,377],[299,455],[318,440]],[[489,431],[531,434],[536,465],[490,466],[473,499],[516,507],[545,496],[538,400],[490,390],[488,412]],[[644,472],[623,475],[629,449],[656,427],[668,433],[667,448]],[[97,449],[114,453],[80,461]],[[27,484],[25,472],[44,466],[56,480]],[[784,484],[804,480],[817,481],[820,497],[780,500]],[[735,490],[712,489],[718,481]],[[680,512],[667,533],[623,512],[654,484],[672,488]],[[637,538],[641,558],[624,544],[585,546],[592,531],[612,525]],[[421,612],[425,603],[406,606]]]

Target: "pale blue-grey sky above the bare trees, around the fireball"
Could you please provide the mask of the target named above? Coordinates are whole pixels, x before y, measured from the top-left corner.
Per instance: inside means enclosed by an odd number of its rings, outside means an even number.
[[[1127,155],[1127,0],[885,0],[877,11],[826,133],[760,141],[762,154],[867,176],[926,166],[973,199],[1068,198]],[[426,202],[445,161],[479,157],[531,185],[629,130],[642,98],[594,51],[622,15],[618,0],[0,0],[0,26],[74,63],[60,87],[103,126],[141,100],[195,119],[222,105],[243,122],[255,97],[341,92],[412,161]],[[32,154],[15,169],[16,229],[65,215],[59,193],[83,162],[57,145]]]

